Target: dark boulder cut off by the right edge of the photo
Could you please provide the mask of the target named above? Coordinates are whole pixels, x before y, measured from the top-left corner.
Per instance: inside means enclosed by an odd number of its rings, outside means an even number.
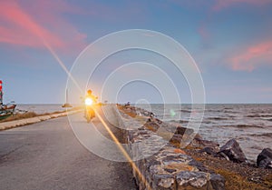
[[[265,148],[257,155],[257,166],[272,169],[272,149]]]

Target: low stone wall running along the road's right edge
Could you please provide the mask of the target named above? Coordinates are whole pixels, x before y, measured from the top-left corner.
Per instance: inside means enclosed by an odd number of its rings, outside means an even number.
[[[185,128],[179,127],[174,138],[167,136],[173,127],[140,108],[119,105],[116,109],[139,189],[225,189],[225,179],[173,145]],[[193,131],[189,131],[193,133]],[[139,171],[138,171],[139,170]]]

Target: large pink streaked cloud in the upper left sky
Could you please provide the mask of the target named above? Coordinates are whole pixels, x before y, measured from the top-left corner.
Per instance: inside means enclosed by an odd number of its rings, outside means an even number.
[[[24,8],[16,1],[1,1],[0,43],[39,48],[47,44],[64,51],[69,47],[83,46],[85,35],[60,15],[63,11],[72,12],[73,9],[63,1],[55,1],[55,5],[44,2],[47,3],[31,1]]]

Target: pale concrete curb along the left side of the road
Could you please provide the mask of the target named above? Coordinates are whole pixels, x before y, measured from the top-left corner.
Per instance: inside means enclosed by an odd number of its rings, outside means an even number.
[[[81,110],[68,111],[68,112],[63,112],[63,113],[59,113],[59,114],[52,114],[52,115],[35,116],[35,117],[31,117],[31,118],[25,118],[25,119],[10,121],[10,122],[4,122],[4,123],[0,123],[0,131],[15,128],[18,126],[23,126],[23,125],[30,125],[30,124],[42,122],[42,121],[45,121],[48,119],[61,117],[61,116],[72,115],[72,114],[75,114],[78,112],[81,112]]]

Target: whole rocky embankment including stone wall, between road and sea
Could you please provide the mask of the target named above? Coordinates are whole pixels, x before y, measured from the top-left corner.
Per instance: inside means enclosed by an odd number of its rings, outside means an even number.
[[[180,148],[184,135],[193,135],[193,131],[182,126],[173,131],[172,126],[137,107],[120,105],[118,113],[123,135],[132,147],[131,157],[149,155],[135,161],[143,175],[134,171],[140,189],[272,189],[272,170],[264,169],[271,167],[269,148],[252,165],[235,139],[220,147],[196,135]],[[165,132],[173,133],[169,137]]]

